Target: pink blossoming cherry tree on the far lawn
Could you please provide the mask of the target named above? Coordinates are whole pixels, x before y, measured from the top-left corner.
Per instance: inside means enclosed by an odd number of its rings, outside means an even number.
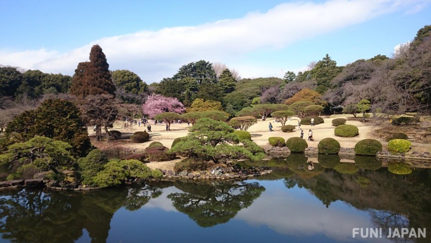
[[[181,114],[186,111],[186,108],[184,108],[183,103],[179,102],[177,98],[155,94],[148,97],[147,102],[142,105],[142,111],[150,118],[153,118],[155,115],[165,112]]]

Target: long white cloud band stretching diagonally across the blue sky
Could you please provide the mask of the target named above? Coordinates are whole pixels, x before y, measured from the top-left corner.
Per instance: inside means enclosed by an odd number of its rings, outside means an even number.
[[[43,72],[73,74],[81,61],[88,60],[90,48],[99,44],[112,70],[127,69],[148,83],[171,77],[179,67],[192,61],[236,63],[238,57],[262,48],[278,49],[318,34],[341,29],[400,9],[417,12],[429,0],[331,0],[278,5],[265,13],[252,12],[242,18],[225,19],[197,26],[140,31],[106,37],[67,53],[46,49],[8,52],[0,50],[0,63],[39,69]],[[227,63],[244,77],[280,76],[279,67],[256,72],[255,63],[241,68]],[[273,75],[271,75],[273,74]]]

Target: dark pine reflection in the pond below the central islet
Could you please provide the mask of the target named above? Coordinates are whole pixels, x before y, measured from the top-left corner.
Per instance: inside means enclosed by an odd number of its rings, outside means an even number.
[[[228,222],[265,191],[257,182],[176,182],[174,186],[183,192],[168,195],[173,206],[201,227]]]

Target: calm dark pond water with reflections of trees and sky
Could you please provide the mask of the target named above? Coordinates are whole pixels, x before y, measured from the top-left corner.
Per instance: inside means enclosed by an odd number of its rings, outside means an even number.
[[[0,192],[0,242],[431,242],[431,169],[319,157],[308,170],[304,157],[266,161],[274,172],[246,181]],[[428,234],[385,237],[397,227]]]

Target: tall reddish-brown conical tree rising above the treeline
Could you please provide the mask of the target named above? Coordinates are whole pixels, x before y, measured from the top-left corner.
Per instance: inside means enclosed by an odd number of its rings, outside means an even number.
[[[111,81],[109,64],[99,45],[90,51],[90,61],[80,62],[72,80],[71,93],[85,97],[96,94],[115,95],[115,85]]]

